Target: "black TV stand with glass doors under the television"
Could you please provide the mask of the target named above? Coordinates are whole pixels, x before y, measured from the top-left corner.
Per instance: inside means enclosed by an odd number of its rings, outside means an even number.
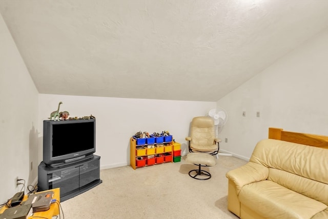
[[[100,156],[52,167],[41,162],[38,166],[38,191],[60,188],[60,202],[81,194],[102,183]]]

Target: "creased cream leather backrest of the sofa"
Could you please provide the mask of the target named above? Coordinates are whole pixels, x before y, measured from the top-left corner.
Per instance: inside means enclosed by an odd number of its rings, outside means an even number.
[[[267,139],[250,162],[268,167],[268,180],[328,205],[327,149]]]

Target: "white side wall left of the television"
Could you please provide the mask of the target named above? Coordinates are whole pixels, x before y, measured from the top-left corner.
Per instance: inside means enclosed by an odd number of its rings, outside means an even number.
[[[22,188],[17,176],[26,187],[35,184],[37,106],[38,92],[0,14],[0,203]]]

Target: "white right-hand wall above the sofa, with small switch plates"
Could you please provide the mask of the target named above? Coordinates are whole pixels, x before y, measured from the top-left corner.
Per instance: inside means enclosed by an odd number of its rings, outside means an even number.
[[[247,160],[269,127],[328,135],[327,83],[325,29],[217,102],[229,113],[221,148]]]

